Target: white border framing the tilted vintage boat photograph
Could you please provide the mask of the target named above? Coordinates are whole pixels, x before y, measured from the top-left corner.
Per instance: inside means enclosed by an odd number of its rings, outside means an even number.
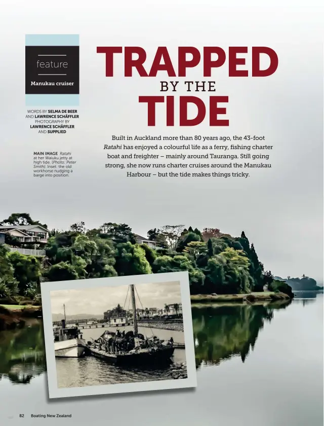
[[[180,282],[184,340],[187,362],[185,379],[154,380],[147,382],[117,383],[98,386],[80,386],[61,388],[57,385],[55,349],[53,339],[53,322],[51,292],[55,290],[79,290],[98,287],[126,286],[128,284],[145,284],[158,282]],[[145,390],[178,389],[197,386],[194,340],[191,317],[191,302],[188,272],[167,272],[160,274],[128,275],[110,278],[90,278],[69,281],[52,281],[41,283],[43,323],[46,349],[47,377],[49,398],[83,397],[90,395],[121,394]]]

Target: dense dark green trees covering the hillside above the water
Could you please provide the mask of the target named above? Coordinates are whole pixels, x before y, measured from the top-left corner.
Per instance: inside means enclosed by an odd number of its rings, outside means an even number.
[[[28,214],[11,215],[6,223],[39,224]],[[273,285],[273,275],[263,273],[254,245],[244,232],[235,238],[218,228],[204,228],[201,233],[191,226],[166,225],[150,229],[147,236],[156,242],[157,250],[137,244],[127,224],[106,222],[87,230],[85,223],[79,222],[68,231],[52,234],[42,260],[9,254],[2,246],[0,297],[19,293],[33,298],[39,292],[41,277],[61,281],[152,272],[188,271],[191,294],[246,294],[263,291],[265,284]]]

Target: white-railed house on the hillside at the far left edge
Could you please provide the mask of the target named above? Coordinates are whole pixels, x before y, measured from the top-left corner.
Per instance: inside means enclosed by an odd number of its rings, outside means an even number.
[[[49,230],[40,225],[0,225],[0,232],[9,234],[22,243],[46,244],[50,236]]]

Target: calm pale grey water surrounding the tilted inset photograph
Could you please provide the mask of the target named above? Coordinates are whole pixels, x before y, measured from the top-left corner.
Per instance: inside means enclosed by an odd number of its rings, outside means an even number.
[[[322,426],[322,294],[298,293],[286,305],[193,306],[192,314],[195,390],[49,401],[44,364],[39,366],[37,358],[21,360],[24,351],[42,352],[41,328],[1,333],[0,419],[13,416],[8,424],[21,424],[19,412],[25,425],[34,425],[31,413],[72,413],[69,424],[79,426],[107,420],[109,412],[112,422],[142,426],[143,416],[134,413],[143,409],[154,426],[165,426],[166,419],[168,426]],[[177,341],[176,332],[169,333]],[[19,375],[23,367],[27,374]]]

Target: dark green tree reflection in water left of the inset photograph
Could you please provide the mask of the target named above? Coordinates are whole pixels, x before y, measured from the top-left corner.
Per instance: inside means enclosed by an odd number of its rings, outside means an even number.
[[[26,384],[46,371],[43,323],[31,319],[19,330],[0,333],[0,380]]]

